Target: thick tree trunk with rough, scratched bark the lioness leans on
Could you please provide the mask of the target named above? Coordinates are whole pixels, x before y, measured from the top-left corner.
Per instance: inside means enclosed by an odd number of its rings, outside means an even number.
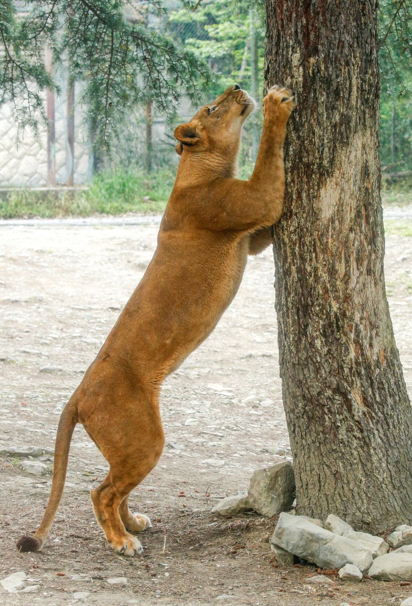
[[[382,531],[412,521],[412,408],[385,296],[376,10],[266,0],[265,78],[298,103],[274,239],[298,513]]]

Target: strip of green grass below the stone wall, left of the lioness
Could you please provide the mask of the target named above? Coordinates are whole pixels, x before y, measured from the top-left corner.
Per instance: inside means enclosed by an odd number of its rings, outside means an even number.
[[[154,213],[165,209],[175,179],[175,171],[103,171],[88,190],[47,193],[30,189],[14,190],[0,200],[0,218],[43,219]]]

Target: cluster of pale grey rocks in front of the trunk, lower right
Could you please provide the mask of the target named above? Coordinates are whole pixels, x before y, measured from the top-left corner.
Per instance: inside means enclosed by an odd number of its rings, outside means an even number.
[[[295,556],[320,568],[339,569],[339,577],[362,581],[363,575],[381,581],[412,581],[412,527],[402,525],[390,534],[390,551],[384,539],[356,532],[330,515],[324,528],[319,520],[281,513],[271,539],[271,549],[280,564],[293,564]]]

